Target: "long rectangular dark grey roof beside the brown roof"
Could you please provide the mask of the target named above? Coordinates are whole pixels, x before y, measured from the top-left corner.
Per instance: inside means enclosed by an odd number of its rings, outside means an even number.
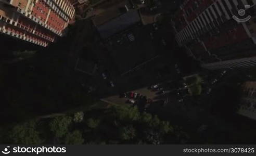
[[[100,36],[108,38],[113,34],[116,34],[122,30],[127,29],[131,25],[140,21],[140,17],[137,10],[130,10],[125,14],[122,14],[103,25],[97,27]]]

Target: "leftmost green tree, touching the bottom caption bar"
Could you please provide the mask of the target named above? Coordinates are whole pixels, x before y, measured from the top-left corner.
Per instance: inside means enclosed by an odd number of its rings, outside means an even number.
[[[9,134],[12,144],[41,144],[39,132],[36,131],[36,121],[15,125]]]

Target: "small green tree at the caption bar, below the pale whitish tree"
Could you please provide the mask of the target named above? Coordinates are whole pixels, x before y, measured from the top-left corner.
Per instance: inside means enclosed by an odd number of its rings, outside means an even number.
[[[68,133],[65,138],[66,145],[81,145],[84,143],[82,133],[78,130]]]

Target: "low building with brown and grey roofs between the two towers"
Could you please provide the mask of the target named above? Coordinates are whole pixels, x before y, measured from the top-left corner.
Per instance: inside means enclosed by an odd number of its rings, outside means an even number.
[[[138,10],[134,9],[130,1],[126,0],[116,3],[110,1],[98,6],[96,10],[100,14],[92,17],[92,22],[103,39],[122,32],[141,21]]]

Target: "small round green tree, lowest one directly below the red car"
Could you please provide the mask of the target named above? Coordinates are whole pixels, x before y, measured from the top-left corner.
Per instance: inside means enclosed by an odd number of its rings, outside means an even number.
[[[131,140],[136,137],[136,129],[133,125],[120,128],[120,138],[122,140]]]

